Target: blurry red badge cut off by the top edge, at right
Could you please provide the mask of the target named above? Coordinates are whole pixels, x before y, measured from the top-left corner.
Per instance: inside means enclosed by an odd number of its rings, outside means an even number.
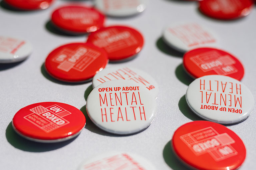
[[[247,16],[251,12],[252,6],[252,0],[199,1],[199,9],[203,14],[222,20],[231,20]]]

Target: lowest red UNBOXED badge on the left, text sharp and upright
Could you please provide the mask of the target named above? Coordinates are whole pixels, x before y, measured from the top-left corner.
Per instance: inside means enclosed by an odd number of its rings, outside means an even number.
[[[42,102],[20,109],[13,117],[12,126],[26,139],[60,142],[77,136],[85,126],[85,117],[68,104]]]

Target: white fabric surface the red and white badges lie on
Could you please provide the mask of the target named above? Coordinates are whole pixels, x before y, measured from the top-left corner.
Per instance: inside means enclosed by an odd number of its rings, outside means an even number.
[[[185,103],[184,95],[192,79],[181,69],[182,57],[175,51],[161,50],[165,48],[159,40],[162,31],[173,22],[197,22],[215,31],[220,37],[222,49],[242,61],[245,67],[242,82],[256,99],[256,7],[245,18],[219,21],[202,15],[197,2],[150,0],[147,9],[140,15],[106,19],[106,26],[129,25],[138,29],[145,38],[144,48],[136,58],[108,64],[108,67],[135,67],[151,74],[159,83],[157,115],[149,128],[133,135],[112,135],[97,128],[87,117],[85,129],[71,141],[43,144],[23,139],[11,128],[13,116],[22,107],[37,102],[57,101],[85,111],[85,96],[91,82],[57,82],[42,67],[48,53],[57,46],[86,41],[86,36],[59,35],[46,29],[51,12],[68,2],[71,1],[59,0],[49,9],[32,12],[16,12],[0,7],[0,35],[27,39],[34,47],[33,53],[24,62],[0,65],[0,169],[71,170],[86,158],[113,150],[139,154],[159,170],[186,169],[171,153],[169,142],[179,126],[201,119]],[[92,4],[89,0],[77,2]],[[255,169],[255,106],[247,120],[227,127],[241,137],[247,148],[247,157],[240,169]]]

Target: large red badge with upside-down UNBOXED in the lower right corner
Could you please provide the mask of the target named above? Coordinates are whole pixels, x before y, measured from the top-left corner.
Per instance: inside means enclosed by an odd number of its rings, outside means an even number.
[[[176,156],[187,166],[203,170],[234,170],[245,160],[243,141],[223,125],[194,121],[179,127],[173,135]]]

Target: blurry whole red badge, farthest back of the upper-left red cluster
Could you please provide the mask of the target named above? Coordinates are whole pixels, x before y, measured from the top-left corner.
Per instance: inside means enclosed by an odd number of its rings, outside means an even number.
[[[64,6],[52,13],[52,22],[59,29],[71,33],[90,33],[101,27],[104,15],[94,8],[85,6]]]

